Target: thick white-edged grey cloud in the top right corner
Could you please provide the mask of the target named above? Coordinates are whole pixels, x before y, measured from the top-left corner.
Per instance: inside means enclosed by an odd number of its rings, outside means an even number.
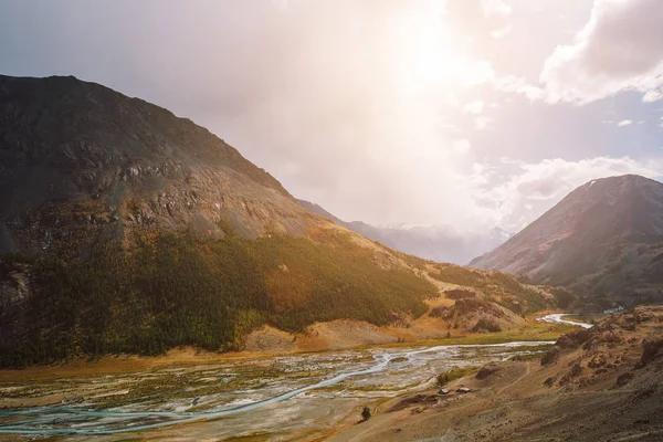
[[[594,0],[571,44],[544,64],[549,102],[589,103],[622,91],[659,99],[663,87],[663,1]]]

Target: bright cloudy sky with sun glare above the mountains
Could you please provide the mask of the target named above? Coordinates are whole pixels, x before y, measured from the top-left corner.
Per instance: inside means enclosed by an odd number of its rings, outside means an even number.
[[[0,0],[0,73],[208,127],[344,220],[516,232],[663,179],[661,0]]]

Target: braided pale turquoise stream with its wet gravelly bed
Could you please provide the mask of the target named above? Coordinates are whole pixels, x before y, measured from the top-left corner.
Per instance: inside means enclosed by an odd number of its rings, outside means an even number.
[[[562,317],[548,315],[540,320],[570,323]],[[0,397],[36,394],[45,403],[0,409],[0,434],[115,440],[114,434],[158,429],[160,436],[167,431],[176,439],[280,434],[302,428],[324,431],[364,403],[430,388],[441,372],[544,351],[551,344],[325,351],[1,385]],[[181,424],[191,422],[197,423],[182,430]]]

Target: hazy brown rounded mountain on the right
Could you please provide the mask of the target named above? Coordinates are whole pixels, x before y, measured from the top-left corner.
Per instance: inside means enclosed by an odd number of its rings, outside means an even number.
[[[470,265],[625,304],[663,301],[663,185],[592,180]]]

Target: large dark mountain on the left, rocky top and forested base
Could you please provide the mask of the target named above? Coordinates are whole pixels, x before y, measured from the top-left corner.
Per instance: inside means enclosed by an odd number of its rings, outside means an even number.
[[[402,327],[441,337],[551,305],[544,287],[428,263],[307,211],[167,109],[74,77],[0,76],[0,367],[236,350],[265,327],[308,336],[340,319],[386,341]]]

